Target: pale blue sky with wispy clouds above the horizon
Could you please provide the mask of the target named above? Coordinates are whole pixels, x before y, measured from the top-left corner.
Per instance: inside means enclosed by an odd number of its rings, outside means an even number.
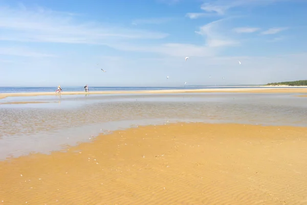
[[[0,0],[0,86],[307,79],[306,10],[307,0]]]

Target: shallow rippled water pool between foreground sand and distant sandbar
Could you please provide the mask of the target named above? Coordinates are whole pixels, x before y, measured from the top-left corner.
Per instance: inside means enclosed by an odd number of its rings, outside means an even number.
[[[33,92],[33,91],[31,91]],[[0,104],[0,160],[49,153],[99,133],[169,122],[307,126],[307,98],[279,93],[181,93],[7,97]],[[307,133],[306,133],[307,137]]]

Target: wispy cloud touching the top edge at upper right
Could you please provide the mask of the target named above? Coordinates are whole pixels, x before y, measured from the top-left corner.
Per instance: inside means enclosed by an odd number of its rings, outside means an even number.
[[[199,18],[206,16],[206,14],[225,15],[228,10],[233,9],[235,7],[247,7],[247,6],[255,7],[261,5],[273,4],[281,1],[290,1],[290,0],[232,0],[232,1],[211,0],[209,2],[202,4],[201,9],[205,11],[204,13],[189,13],[186,16],[189,18]]]

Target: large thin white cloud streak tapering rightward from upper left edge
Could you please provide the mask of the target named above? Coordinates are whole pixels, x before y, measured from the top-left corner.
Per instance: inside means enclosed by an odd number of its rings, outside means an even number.
[[[44,9],[0,7],[0,40],[107,44],[118,40],[161,39],[168,34],[77,22],[74,15]]]

